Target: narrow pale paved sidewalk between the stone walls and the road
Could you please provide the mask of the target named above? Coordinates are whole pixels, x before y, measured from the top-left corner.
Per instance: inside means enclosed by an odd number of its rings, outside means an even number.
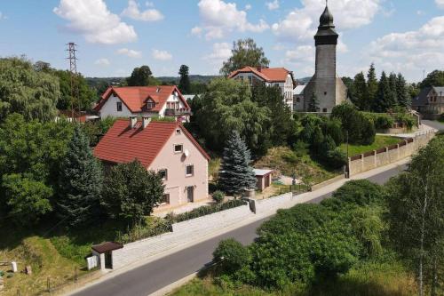
[[[403,166],[404,164],[408,164],[410,161],[410,158],[405,158],[403,160],[400,160],[397,163],[388,164],[384,167],[379,167],[377,169],[368,171],[368,172],[362,172],[360,174],[357,174],[353,176],[350,180],[360,180],[360,179],[368,179],[372,176],[376,176],[380,174],[381,172],[389,171],[398,167]],[[302,203],[310,203],[315,202],[322,198],[322,196],[326,196],[331,194],[331,192],[335,191],[337,188],[341,187],[345,184],[345,182],[348,180],[339,180],[335,183],[329,184],[324,188],[320,188],[318,190],[315,190],[313,192],[307,192],[302,195],[294,196],[294,198],[291,199],[289,203],[281,204],[279,208],[289,208],[294,206],[295,204],[302,204]],[[233,231],[238,228],[242,228],[244,226],[247,226],[251,223],[255,223],[259,220],[264,220],[267,217],[270,217],[274,215],[274,213],[278,210],[278,208],[270,209],[269,212],[262,212],[260,214],[251,214],[248,218],[239,220],[237,223],[234,223],[230,226],[227,226],[226,228],[218,228],[218,229],[207,229],[207,231],[194,234],[190,236],[187,234],[185,237],[183,237],[184,241],[178,242],[177,244],[163,244],[161,241],[158,241],[156,244],[158,245],[158,252],[153,253],[151,256],[146,257],[144,259],[139,260],[138,262],[132,263],[124,268],[115,269],[112,271],[107,272],[106,275],[102,276],[98,281],[95,281],[94,283],[87,284],[80,288],[79,290],[75,292],[69,293],[69,295],[75,294],[76,292],[83,291],[84,289],[87,289],[91,287],[91,285],[102,283],[110,278],[114,278],[115,276],[122,275],[123,273],[126,273],[134,268],[139,268],[141,266],[146,265],[147,263],[153,262],[155,260],[160,260],[162,258],[168,257],[172,255],[175,252],[179,252],[182,250],[185,250],[186,248],[189,248],[195,244],[200,244],[202,242],[208,241],[211,238],[214,238],[216,236],[221,236],[227,232]],[[166,237],[165,237],[166,236]],[[165,239],[168,241],[170,240],[170,234],[164,235]],[[168,238],[167,238],[168,237]],[[179,237],[175,237],[175,240],[178,240]]]

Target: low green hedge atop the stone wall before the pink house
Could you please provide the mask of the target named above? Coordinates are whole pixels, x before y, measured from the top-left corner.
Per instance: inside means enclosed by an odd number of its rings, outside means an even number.
[[[221,212],[228,209],[233,209],[235,207],[248,204],[242,199],[233,199],[224,204],[211,204],[203,205],[201,207],[195,208],[190,212],[183,212],[179,214],[169,213],[165,219],[169,220],[170,223],[178,223],[186,220],[191,220],[194,218],[199,218],[202,216],[210,215],[215,212]]]

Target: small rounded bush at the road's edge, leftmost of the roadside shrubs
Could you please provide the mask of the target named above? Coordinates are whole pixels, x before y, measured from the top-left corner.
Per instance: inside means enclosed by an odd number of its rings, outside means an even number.
[[[250,260],[249,249],[233,238],[221,241],[213,252],[213,261],[228,274],[247,266]]]

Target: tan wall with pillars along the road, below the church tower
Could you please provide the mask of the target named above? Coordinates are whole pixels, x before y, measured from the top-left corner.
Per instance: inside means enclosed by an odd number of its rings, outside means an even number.
[[[360,159],[352,160],[352,157],[348,160],[348,167],[350,175],[354,175],[360,172],[366,172],[383,166],[385,164],[392,164],[400,159],[414,155],[420,148],[426,146],[430,140],[434,137],[434,132],[425,132],[417,135],[413,139],[406,139],[400,141],[399,144],[393,147],[386,147],[384,152],[373,151],[370,153],[362,154]],[[379,153],[378,153],[379,152]]]

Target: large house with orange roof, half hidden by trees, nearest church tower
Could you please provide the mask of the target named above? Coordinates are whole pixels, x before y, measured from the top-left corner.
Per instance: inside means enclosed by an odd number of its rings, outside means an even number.
[[[260,82],[266,86],[279,86],[285,103],[293,109],[293,89],[297,83],[293,72],[286,68],[244,67],[235,70],[228,78],[243,79],[250,85]]]

